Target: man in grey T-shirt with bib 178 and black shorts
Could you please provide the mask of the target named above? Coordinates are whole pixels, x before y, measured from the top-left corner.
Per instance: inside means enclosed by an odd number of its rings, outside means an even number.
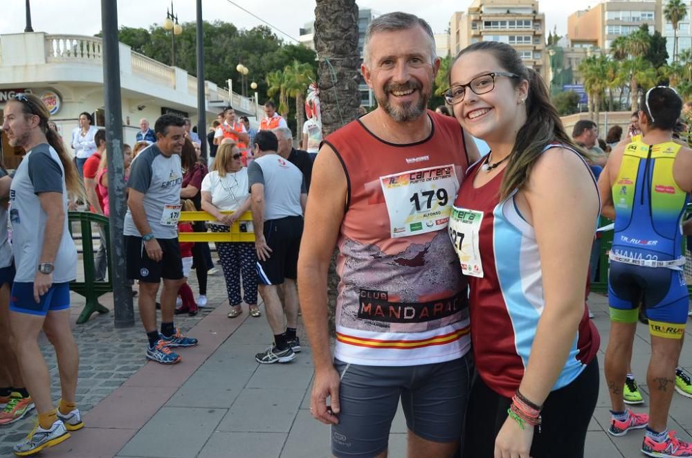
[[[183,336],[173,324],[175,300],[183,284],[178,245],[180,190],[183,171],[180,152],[185,143],[185,120],[163,115],[156,120],[156,143],[137,155],[127,181],[125,215],[127,276],[139,280],[139,313],[147,332],[147,358],[161,364],[181,358],[170,347],[192,347],[197,339]],[[161,291],[161,333],[156,330],[156,293]]]

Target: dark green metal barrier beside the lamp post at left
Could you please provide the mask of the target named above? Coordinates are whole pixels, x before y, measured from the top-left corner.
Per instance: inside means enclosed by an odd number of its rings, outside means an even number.
[[[82,230],[82,263],[84,265],[84,282],[70,282],[70,289],[75,293],[83,295],[86,298],[84,310],[80,313],[77,319],[77,324],[84,324],[89,321],[89,317],[95,312],[108,313],[109,310],[98,302],[98,297],[105,293],[113,291],[111,282],[111,250],[108,242],[111,239],[110,224],[107,217],[91,212],[68,212],[69,229],[72,234],[72,223],[79,222]],[[102,244],[106,244],[106,258],[108,265],[108,280],[103,282],[95,281],[95,263],[93,256],[93,232],[92,224],[102,224],[105,240],[101,240]],[[74,238],[74,236],[73,236]]]

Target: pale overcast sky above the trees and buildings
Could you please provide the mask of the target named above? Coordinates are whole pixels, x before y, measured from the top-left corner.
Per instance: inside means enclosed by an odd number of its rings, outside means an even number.
[[[314,19],[314,0],[233,1],[294,38],[298,38],[298,28]],[[1,0],[1,3],[0,34],[24,31],[24,1]],[[194,0],[174,1],[180,22],[195,20],[195,3]],[[435,33],[442,33],[448,28],[452,13],[468,8],[471,0],[358,0],[356,3],[360,8],[372,8],[380,13],[397,10],[411,12],[430,22]],[[567,29],[568,15],[597,3],[595,0],[543,0],[539,7],[546,15],[549,30],[557,26],[558,33],[563,35]],[[31,0],[32,25],[37,32],[94,35],[101,30],[100,4],[98,0]],[[206,20],[221,19],[239,28],[261,24],[227,0],[203,0],[202,6]],[[118,0],[118,24],[145,28],[154,23],[161,24],[166,8],[170,8],[170,1]],[[277,35],[280,33],[277,32]]]

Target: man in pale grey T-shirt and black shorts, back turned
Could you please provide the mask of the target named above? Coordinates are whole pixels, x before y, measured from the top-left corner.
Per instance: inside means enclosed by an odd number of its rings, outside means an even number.
[[[255,360],[261,364],[288,363],[300,352],[300,340],[295,335],[298,326],[295,277],[307,194],[302,172],[277,154],[276,136],[271,131],[259,131],[254,141],[255,161],[248,166],[248,181],[255,226],[257,283],[274,334],[274,345],[258,353]],[[283,306],[277,286],[284,293]]]

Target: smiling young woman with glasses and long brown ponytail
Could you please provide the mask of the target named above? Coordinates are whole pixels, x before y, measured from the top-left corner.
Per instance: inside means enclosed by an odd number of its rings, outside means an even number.
[[[480,375],[464,456],[582,457],[599,386],[584,301],[596,182],[545,83],[511,46],[465,48],[444,95],[491,147],[466,172],[449,224]]]

